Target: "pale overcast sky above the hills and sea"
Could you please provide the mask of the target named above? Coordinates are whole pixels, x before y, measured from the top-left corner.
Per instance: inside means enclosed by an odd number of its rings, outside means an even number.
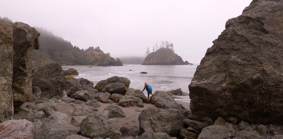
[[[144,56],[162,40],[200,63],[228,19],[252,0],[0,0],[0,16],[43,27],[73,45],[112,57]]]

